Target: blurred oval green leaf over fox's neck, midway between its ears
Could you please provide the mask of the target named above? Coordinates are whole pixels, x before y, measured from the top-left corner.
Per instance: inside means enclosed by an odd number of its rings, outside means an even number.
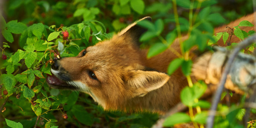
[[[148,50],[148,55],[147,58],[151,58],[153,56],[156,56],[157,54],[164,52],[168,47],[163,44],[163,43],[156,43],[153,44],[149,50]]]

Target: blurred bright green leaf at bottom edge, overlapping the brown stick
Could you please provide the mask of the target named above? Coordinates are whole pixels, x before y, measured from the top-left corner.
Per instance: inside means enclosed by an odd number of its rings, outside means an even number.
[[[186,113],[175,113],[164,120],[164,127],[171,127],[174,124],[190,122],[190,117]]]

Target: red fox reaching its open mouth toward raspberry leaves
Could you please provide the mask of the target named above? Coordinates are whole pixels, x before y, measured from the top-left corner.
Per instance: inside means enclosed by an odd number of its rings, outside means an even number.
[[[254,23],[253,14],[214,31],[227,31],[226,26],[237,26],[242,20]],[[253,28],[242,28],[249,29]],[[56,60],[51,68],[52,76],[46,78],[48,84],[57,89],[88,93],[106,110],[165,113],[180,102],[180,91],[188,85],[187,79],[180,70],[171,76],[166,74],[169,63],[177,58],[170,50],[147,59],[148,50],[141,50],[139,42],[145,31],[135,22],[112,39],[87,47],[76,57]],[[238,42],[238,38],[232,37],[230,42]],[[172,47],[179,51],[177,39]]]

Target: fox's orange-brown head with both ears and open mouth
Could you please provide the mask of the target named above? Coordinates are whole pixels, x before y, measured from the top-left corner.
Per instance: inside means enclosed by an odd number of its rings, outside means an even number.
[[[141,20],[151,21],[151,18]],[[104,109],[133,108],[129,102],[162,87],[170,77],[145,66],[146,55],[139,43],[145,31],[135,22],[112,39],[87,47],[76,57],[55,61],[52,76],[46,78],[48,84],[88,93]]]

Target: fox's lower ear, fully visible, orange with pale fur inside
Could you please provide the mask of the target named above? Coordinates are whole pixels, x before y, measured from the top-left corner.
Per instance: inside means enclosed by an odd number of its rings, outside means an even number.
[[[124,77],[124,82],[132,92],[132,97],[144,96],[148,92],[162,87],[170,76],[157,71],[130,70]]]

